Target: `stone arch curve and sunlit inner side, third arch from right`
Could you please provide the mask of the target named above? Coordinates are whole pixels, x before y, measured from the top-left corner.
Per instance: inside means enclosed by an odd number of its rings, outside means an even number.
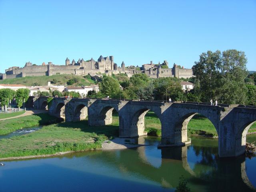
[[[159,118],[159,120],[162,124],[162,121],[160,118],[161,116],[159,114],[157,114],[157,112],[155,112],[155,110],[148,109],[148,108],[141,108],[141,109],[137,110],[132,116],[132,120],[130,122],[131,137],[147,135],[147,133],[145,132],[145,115],[150,110],[156,114],[156,116]]]

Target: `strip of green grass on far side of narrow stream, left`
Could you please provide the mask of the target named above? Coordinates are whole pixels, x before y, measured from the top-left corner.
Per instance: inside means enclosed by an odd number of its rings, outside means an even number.
[[[50,124],[57,121],[58,121],[58,118],[50,116],[46,113],[28,115],[28,116],[23,116],[23,117],[8,119],[8,120],[2,120],[0,121],[0,135],[8,134],[21,128],[45,125],[45,124]]]

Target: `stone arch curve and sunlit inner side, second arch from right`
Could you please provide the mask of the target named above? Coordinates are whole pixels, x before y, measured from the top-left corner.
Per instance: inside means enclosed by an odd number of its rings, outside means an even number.
[[[184,142],[188,141],[188,123],[196,114],[202,115],[205,118],[207,118],[208,120],[210,120],[210,122],[212,123],[212,125],[214,126],[214,128],[216,129],[216,132],[218,134],[218,124],[216,124],[216,122],[214,120],[212,120],[211,117],[209,117],[208,115],[205,116],[199,112],[189,112],[188,114],[183,115],[175,123],[174,132],[176,135],[176,137],[175,137],[176,143],[179,143],[179,142],[184,143]]]

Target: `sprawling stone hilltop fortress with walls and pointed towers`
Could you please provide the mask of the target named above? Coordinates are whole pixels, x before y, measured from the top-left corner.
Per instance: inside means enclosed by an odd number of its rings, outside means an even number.
[[[72,62],[68,58],[65,60],[65,65],[55,65],[52,62],[48,62],[42,65],[32,64],[31,62],[26,62],[25,66],[20,67],[10,67],[5,70],[5,74],[2,75],[2,79],[10,79],[17,77],[26,76],[52,76],[55,74],[75,74],[75,75],[87,75],[91,76],[100,74],[120,74],[126,73],[128,77],[131,77],[136,73],[145,73],[150,76],[150,78],[160,78],[160,77],[177,77],[177,78],[190,78],[193,76],[192,69],[185,69],[176,64],[172,68],[168,67],[168,62],[164,61],[162,64],[143,64],[142,67],[128,66],[125,67],[124,62],[122,62],[121,67],[118,67],[114,63],[114,57],[103,57],[100,56],[97,61],[93,58],[84,61],[84,59],[79,59],[77,62],[73,59]]]

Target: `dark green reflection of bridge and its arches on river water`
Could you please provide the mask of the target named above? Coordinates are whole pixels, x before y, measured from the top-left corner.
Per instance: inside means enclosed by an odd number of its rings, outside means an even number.
[[[143,144],[143,140],[140,139]],[[194,141],[194,140],[192,140]],[[152,144],[145,140],[144,144]],[[237,159],[218,158],[218,140],[213,147],[192,146],[156,149],[154,146],[143,146],[127,150],[102,152],[106,158],[102,164],[112,164],[126,174],[135,174],[143,179],[159,183],[163,187],[175,188],[180,176],[184,176],[192,191],[252,191],[245,169],[245,157]],[[193,143],[193,142],[192,142]],[[93,160],[95,161],[95,159]]]

